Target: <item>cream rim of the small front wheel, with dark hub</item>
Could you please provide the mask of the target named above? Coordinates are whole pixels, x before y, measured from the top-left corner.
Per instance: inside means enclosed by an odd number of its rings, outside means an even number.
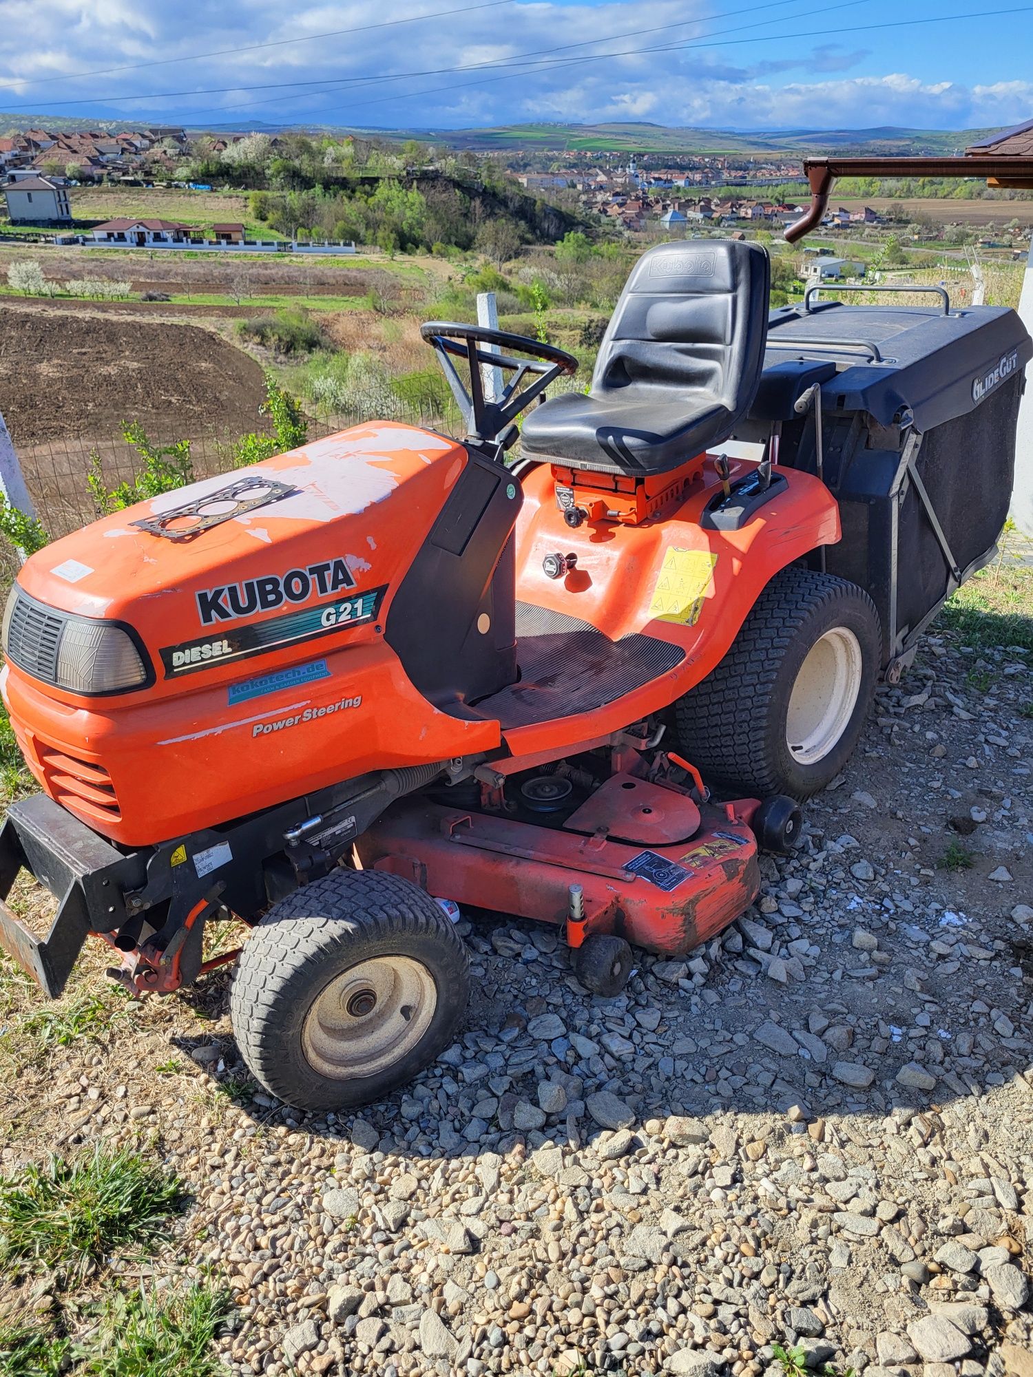
[[[376,1075],[406,1056],[430,1027],[438,990],[408,956],[361,961],[315,997],[302,1027],[313,1070],[332,1081]]]

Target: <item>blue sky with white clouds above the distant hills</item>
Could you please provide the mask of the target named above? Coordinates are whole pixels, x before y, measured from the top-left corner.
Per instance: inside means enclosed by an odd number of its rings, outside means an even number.
[[[240,128],[1008,125],[1033,118],[1033,0],[0,0],[15,109]]]

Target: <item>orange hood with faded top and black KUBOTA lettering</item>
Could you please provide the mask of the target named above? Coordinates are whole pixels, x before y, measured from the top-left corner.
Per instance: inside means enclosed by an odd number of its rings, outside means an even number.
[[[121,624],[158,686],[344,629],[366,639],[466,463],[430,431],[358,425],[94,522],[33,555],[18,587],[37,617]]]

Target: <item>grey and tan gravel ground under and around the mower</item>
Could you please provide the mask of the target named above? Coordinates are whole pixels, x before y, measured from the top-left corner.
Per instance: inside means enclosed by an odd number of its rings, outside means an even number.
[[[340,1120],[255,1093],[225,980],[117,1004],[6,1077],[3,1169],[150,1143],[233,1373],[1033,1377],[1029,658],[930,639],[749,914],[616,1000],[464,921],[461,1041]]]

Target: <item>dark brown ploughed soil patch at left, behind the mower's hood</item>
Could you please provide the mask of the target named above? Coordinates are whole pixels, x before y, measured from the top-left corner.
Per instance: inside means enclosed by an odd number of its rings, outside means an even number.
[[[193,325],[0,310],[0,412],[18,446],[112,437],[123,421],[183,434],[258,419],[262,369]]]

